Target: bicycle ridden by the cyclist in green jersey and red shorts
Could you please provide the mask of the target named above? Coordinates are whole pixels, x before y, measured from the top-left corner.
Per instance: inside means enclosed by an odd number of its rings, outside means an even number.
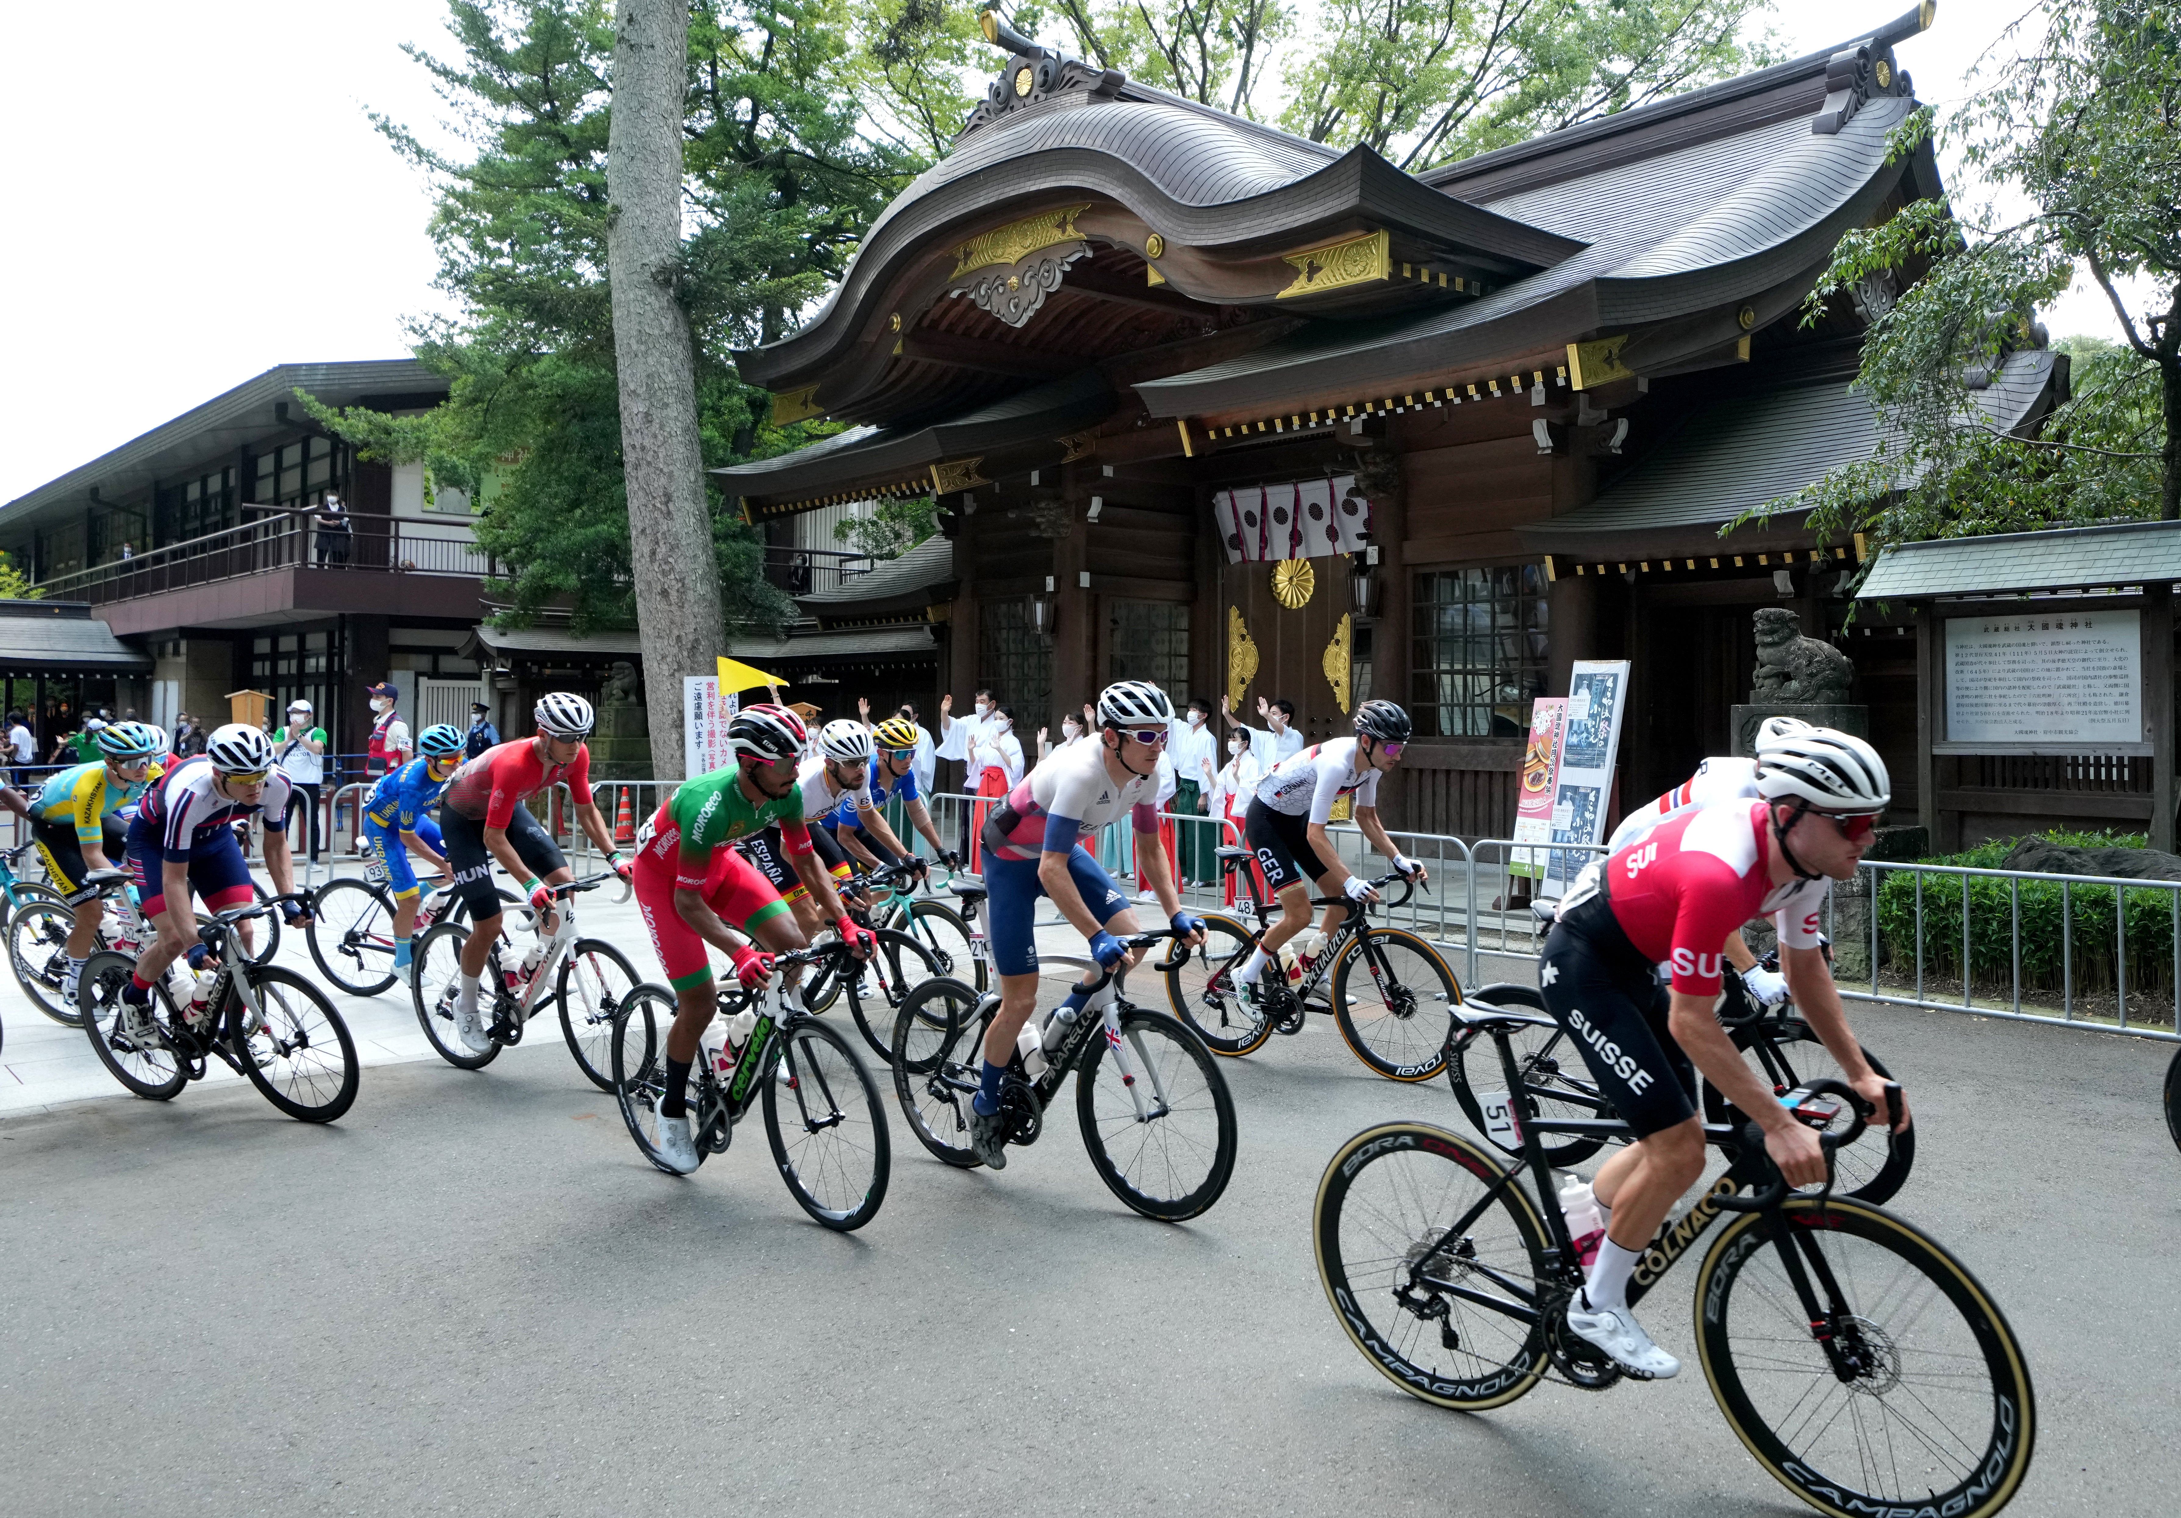
[[[739,1045],[704,1043],[689,1071],[689,1132],[696,1160],[726,1154],[735,1123],[763,1099],[766,1138],[796,1204],[827,1228],[848,1232],[879,1215],[892,1173],[892,1143],[879,1086],[835,1027],[796,1003],[785,971],[853,962],[842,942],[772,957],[768,986],[744,990],[733,977],[718,986],[718,1014],[752,1014]],[[674,992],[637,986],[613,1014],[613,1091],[622,1121],[652,1165],[659,1158],[659,1097],[665,1093],[665,1029],[674,1025]],[[713,1025],[718,1027],[718,1023]]]

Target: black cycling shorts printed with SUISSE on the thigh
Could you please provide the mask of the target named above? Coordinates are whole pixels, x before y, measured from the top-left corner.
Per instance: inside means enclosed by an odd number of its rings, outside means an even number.
[[[1673,997],[1605,896],[1553,925],[1538,981],[1544,1005],[1583,1051],[1599,1095],[1638,1136],[1697,1115],[1697,1069],[1666,1027]]]

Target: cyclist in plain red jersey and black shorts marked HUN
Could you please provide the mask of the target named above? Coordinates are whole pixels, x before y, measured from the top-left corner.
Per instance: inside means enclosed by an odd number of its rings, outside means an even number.
[[[471,1053],[491,1053],[493,1040],[478,1016],[484,964],[499,938],[499,892],[493,864],[523,883],[537,912],[539,938],[554,931],[552,888],[576,879],[567,855],[523,803],[547,785],[567,785],[576,800],[576,822],[589,833],[606,864],[626,881],[635,866],[613,846],[613,829],[591,798],[591,748],[582,739],[595,724],[591,702],[567,691],[547,691],[537,704],[537,735],[486,748],[454,772],[438,803],[438,833],[454,866],[454,894],[469,907],[471,933],[462,942],[462,988],[454,999],[454,1029]]]

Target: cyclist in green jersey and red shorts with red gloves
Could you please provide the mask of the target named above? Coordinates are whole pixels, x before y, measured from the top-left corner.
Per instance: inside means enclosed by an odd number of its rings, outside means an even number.
[[[654,1110],[656,1149],[683,1176],[698,1165],[689,1132],[689,1069],[698,1038],[718,1012],[704,944],[728,955],[735,979],[752,990],[770,979],[772,953],[807,944],[781,892],[742,857],[735,840],[776,827],[783,853],[842,940],[859,957],[877,942],[842,909],[833,879],[811,848],[803,820],[805,787],[796,779],[796,759],[809,742],[803,718],[763,702],[744,707],[726,724],[726,742],[735,763],[683,781],[637,838],[637,907],[674,988],[667,1082]],[[772,953],[752,949],[750,938]]]

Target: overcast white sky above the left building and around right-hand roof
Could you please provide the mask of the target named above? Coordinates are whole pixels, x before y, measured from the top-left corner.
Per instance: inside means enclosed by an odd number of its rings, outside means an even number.
[[[1791,52],[1863,35],[1911,0],[1780,0]],[[1941,0],[1900,57],[1924,100],[2028,0]],[[98,22],[96,44],[85,17]],[[13,13],[0,140],[17,205],[0,238],[0,502],[89,462],[273,364],[399,358],[432,288],[423,179],[366,109],[430,126],[432,87],[399,46],[445,50],[443,0],[214,7],[107,0]],[[2118,336],[2102,297],[2055,334]]]

